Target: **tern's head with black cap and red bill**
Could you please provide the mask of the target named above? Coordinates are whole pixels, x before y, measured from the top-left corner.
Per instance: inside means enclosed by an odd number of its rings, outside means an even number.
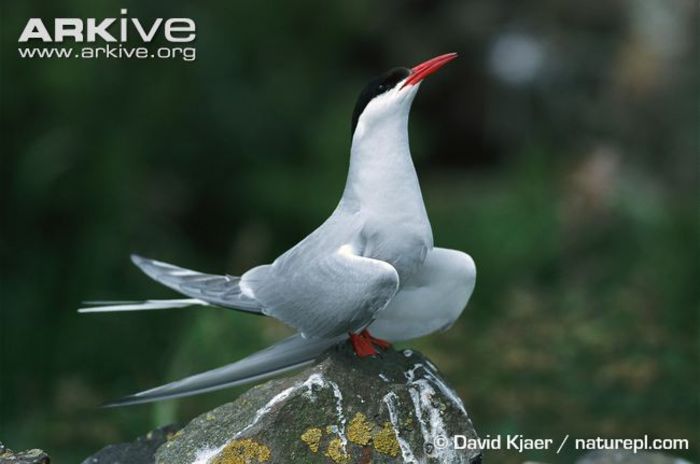
[[[457,58],[446,53],[413,68],[393,68],[378,76],[362,90],[352,114],[352,134],[382,121],[405,116],[423,79]]]

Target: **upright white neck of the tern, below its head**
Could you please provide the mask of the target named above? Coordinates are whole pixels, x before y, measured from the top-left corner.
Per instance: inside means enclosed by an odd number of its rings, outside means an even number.
[[[391,118],[358,124],[352,139],[343,200],[389,208],[423,199],[408,146],[408,108]]]

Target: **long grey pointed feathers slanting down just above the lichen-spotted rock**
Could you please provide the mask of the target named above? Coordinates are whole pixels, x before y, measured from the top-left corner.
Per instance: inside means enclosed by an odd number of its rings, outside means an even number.
[[[126,396],[104,406],[149,403],[263,380],[311,363],[323,351],[345,338],[305,339],[300,334],[293,335],[233,364]]]

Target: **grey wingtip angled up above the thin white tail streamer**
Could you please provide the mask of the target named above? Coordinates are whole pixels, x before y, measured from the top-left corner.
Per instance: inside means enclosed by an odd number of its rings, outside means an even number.
[[[261,313],[260,304],[241,291],[240,277],[203,274],[137,255],[132,255],[131,261],[153,280],[183,295],[225,308]]]

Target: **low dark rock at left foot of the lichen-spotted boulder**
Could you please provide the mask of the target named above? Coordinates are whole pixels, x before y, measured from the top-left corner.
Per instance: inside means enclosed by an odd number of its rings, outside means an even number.
[[[85,459],[83,464],[153,464],[158,447],[178,429],[169,425],[153,430],[134,442],[106,446]]]

